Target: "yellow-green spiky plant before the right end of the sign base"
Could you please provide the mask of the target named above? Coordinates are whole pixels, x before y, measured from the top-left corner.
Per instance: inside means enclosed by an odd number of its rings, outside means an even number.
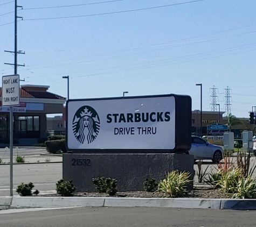
[[[166,178],[160,181],[158,190],[170,195],[170,197],[180,197],[186,192],[190,180],[190,173],[172,171],[168,173]]]

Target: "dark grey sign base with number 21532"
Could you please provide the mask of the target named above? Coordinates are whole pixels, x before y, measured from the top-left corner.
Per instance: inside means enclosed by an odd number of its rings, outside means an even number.
[[[193,163],[193,155],[187,154],[67,153],[63,154],[63,179],[73,180],[77,191],[95,191],[92,179],[101,176],[116,178],[117,191],[139,191],[147,178],[160,181],[174,169],[190,172],[193,180]]]

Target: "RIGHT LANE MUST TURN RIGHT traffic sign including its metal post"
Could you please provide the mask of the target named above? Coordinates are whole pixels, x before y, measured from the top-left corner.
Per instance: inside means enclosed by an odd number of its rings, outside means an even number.
[[[10,107],[10,196],[13,196],[13,106],[19,105],[19,75],[2,77],[2,105]]]

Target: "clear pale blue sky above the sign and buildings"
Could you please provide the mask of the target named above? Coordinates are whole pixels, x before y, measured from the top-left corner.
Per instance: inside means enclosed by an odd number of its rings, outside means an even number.
[[[70,98],[181,94],[249,117],[255,0],[18,0],[20,85]],[[0,0],[0,75],[12,75],[15,1]],[[1,82],[2,83],[2,80]],[[2,84],[0,84],[2,86]],[[216,94],[213,94],[213,91]],[[230,103],[230,105],[226,105]],[[225,114],[224,114],[225,116]]]

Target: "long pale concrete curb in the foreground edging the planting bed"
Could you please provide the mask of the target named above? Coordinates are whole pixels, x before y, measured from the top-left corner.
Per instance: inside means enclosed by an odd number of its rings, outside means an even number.
[[[162,207],[256,210],[256,200],[222,198],[0,197],[0,210],[56,207]]]

